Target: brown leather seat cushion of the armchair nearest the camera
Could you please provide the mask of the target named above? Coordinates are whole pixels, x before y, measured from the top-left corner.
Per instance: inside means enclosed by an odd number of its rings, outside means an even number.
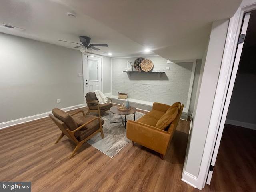
[[[78,119],[83,121],[84,123],[92,120],[93,118],[95,118],[95,116],[93,115],[86,115],[85,117],[79,117]],[[101,124],[104,124],[104,120],[101,120]],[[84,128],[81,129],[81,134],[78,137],[79,140],[84,140],[86,137],[90,136],[91,134],[93,134],[95,131],[97,131],[100,128],[100,124],[98,119],[90,122],[89,124],[87,124]]]

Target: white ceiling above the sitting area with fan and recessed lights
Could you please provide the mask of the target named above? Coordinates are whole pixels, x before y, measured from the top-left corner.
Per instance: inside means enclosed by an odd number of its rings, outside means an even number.
[[[168,60],[202,58],[211,22],[231,17],[241,0],[1,0],[0,32],[72,48],[78,36],[107,43],[94,53],[137,56],[145,48]],[[66,16],[76,13],[76,18]],[[100,48],[100,47],[99,47]],[[149,54],[152,54],[150,52]]]

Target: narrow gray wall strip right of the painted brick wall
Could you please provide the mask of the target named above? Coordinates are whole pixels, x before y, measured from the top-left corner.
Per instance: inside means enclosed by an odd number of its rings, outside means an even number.
[[[197,90],[198,90],[198,87],[199,87],[198,84],[200,85],[200,82],[199,82],[200,76],[202,76],[201,67],[202,67],[202,59],[196,60],[196,69],[195,69],[195,74],[194,74],[194,82],[193,82],[193,88],[192,88],[192,93],[191,93],[190,106],[189,106],[189,109],[188,109],[189,115],[192,115],[192,114],[194,115],[196,93],[197,93]]]

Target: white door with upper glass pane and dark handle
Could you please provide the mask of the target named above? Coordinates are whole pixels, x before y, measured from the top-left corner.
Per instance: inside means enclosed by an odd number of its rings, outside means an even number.
[[[102,91],[102,58],[93,54],[83,54],[84,96],[95,90]]]

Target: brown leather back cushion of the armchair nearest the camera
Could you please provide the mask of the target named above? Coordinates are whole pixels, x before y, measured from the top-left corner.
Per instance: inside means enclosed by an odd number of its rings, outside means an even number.
[[[56,118],[58,118],[59,120],[64,122],[66,124],[66,126],[69,128],[69,130],[73,131],[76,128],[78,128],[74,118],[70,114],[64,112],[63,110],[55,108],[55,109],[52,110],[52,114]],[[78,137],[79,135],[80,135],[79,131],[75,132],[76,137]]]

